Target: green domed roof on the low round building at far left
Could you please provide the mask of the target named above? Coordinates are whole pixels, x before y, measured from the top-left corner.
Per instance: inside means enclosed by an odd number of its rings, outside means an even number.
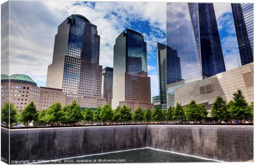
[[[1,82],[19,82],[19,83],[25,83],[25,84],[31,84],[31,85],[37,85],[32,78],[30,78],[28,75],[21,75],[21,74],[13,74],[10,76],[7,75],[1,75]]]

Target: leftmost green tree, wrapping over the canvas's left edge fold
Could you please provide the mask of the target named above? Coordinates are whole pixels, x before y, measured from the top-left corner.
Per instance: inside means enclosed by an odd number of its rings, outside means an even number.
[[[1,120],[7,126],[18,122],[17,108],[13,103],[7,102],[1,107]]]

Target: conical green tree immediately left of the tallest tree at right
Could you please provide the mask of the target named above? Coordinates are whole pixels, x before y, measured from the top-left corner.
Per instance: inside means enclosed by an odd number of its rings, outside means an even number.
[[[227,103],[221,96],[218,96],[213,102],[211,107],[211,116],[222,120],[228,120],[230,118]]]

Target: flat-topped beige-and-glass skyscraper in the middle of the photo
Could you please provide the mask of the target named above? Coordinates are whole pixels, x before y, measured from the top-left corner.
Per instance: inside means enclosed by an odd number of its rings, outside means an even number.
[[[116,38],[113,64],[112,108],[127,105],[132,110],[153,108],[147,76],[147,47],[143,35],[126,29]]]

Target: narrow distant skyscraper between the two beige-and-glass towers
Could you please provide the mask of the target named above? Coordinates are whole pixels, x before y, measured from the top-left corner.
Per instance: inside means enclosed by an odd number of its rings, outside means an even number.
[[[102,70],[102,97],[111,106],[113,90],[113,68],[105,67]]]

